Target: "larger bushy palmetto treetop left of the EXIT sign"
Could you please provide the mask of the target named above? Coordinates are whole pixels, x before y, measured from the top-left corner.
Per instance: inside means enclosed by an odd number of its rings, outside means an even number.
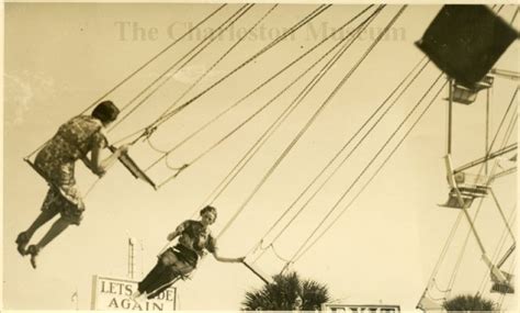
[[[296,272],[278,275],[273,280],[259,290],[246,292],[242,310],[319,310],[329,300],[327,286],[302,280]]]

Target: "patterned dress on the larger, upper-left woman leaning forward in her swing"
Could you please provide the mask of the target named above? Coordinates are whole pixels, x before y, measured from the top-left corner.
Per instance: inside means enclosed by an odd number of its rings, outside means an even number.
[[[93,147],[104,148],[108,145],[102,130],[101,121],[95,118],[72,118],[36,155],[34,165],[50,187],[42,211],[60,213],[71,224],[80,224],[84,204],[76,186],[75,164],[87,157]]]

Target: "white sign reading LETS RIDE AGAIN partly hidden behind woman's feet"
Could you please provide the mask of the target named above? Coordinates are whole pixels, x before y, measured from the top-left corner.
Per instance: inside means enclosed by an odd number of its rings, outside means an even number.
[[[157,298],[137,301],[132,293],[137,291],[137,281],[109,277],[92,277],[91,310],[134,310],[134,311],[171,311],[176,310],[177,289],[169,288]]]

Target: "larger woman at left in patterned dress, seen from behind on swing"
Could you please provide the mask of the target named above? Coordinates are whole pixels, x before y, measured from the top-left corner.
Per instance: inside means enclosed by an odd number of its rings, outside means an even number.
[[[15,241],[22,256],[31,255],[33,268],[36,268],[36,257],[46,245],[69,225],[81,222],[84,204],[76,186],[76,161],[80,159],[94,175],[102,177],[128,149],[127,145],[123,145],[105,159],[101,158],[101,150],[108,146],[103,130],[115,121],[118,113],[112,101],[99,103],[91,115],[79,115],[63,124],[36,155],[34,168],[46,179],[49,189],[39,215]],[[42,239],[26,247],[36,230],[58,213],[60,217]]]

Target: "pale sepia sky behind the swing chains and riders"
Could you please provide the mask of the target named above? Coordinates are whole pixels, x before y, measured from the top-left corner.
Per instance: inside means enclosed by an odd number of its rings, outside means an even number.
[[[204,204],[210,192],[290,104],[304,83],[310,80],[310,75],[307,75],[303,82],[296,83],[251,123],[158,191],[134,180],[121,165],[114,166],[86,198],[87,212],[81,226],[71,226],[53,242],[42,251],[38,269],[32,269],[29,257],[22,258],[18,254],[14,239],[38,214],[46,185],[25,165],[23,157],[48,139],[63,122],[81,112],[122,78],[179,37],[186,27],[194,25],[216,8],[217,4],[5,4],[4,309],[71,310],[75,304],[70,297],[77,289],[79,308],[88,310],[93,275],[126,277],[128,236],[137,238],[139,243],[136,251],[137,276],[146,273],[154,266],[156,254],[166,244],[167,234],[180,222],[192,217],[193,212]],[[161,70],[168,68],[169,64],[179,59],[207,34],[210,27],[215,29],[238,8],[238,4],[224,8],[208,21],[203,31],[180,42],[110,99],[122,108]],[[244,27],[255,24],[271,8],[272,4],[257,4],[249,10],[221,40],[176,74],[173,79],[110,133],[111,139],[118,139],[150,123],[236,42],[244,33]],[[258,25],[255,35],[240,43],[183,100],[197,94],[316,8],[317,5],[310,4],[281,4],[275,8]],[[151,137],[154,146],[159,149],[171,148],[363,8],[332,5],[293,36],[161,125]],[[262,176],[399,8],[389,5],[383,10],[360,41],[343,55],[294,114],[262,146],[237,179],[216,199],[213,203],[218,209],[218,220],[213,225],[215,233],[224,227],[251,195]],[[221,237],[219,251],[223,256],[247,254],[422,58],[422,53],[414,46],[414,42],[420,38],[440,8],[410,5],[406,9],[389,35],[375,47],[325,107],[301,141]],[[509,21],[513,10],[515,7],[506,5],[499,14]],[[515,24],[518,29],[518,19]],[[334,42],[340,37],[336,36]],[[267,103],[330,46],[331,43],[328,43],[307,56],[230,114],[176,150],[170,156],[169,164],[179,167],[190,163]],[[518,64],[519,46],[516,42],[496,67],[518,71]],[[316,69],[312,75],[315,72]],[[280,237],[274,247],[281,257],[290,258],[304,243],[439,74],[433,65],[425,69],[373,134]],[[496,78],[489,97],[491,135],[506,112],[517,83]],[[438,88],[436,87],[436,90]],[[444,90],[365,192],[293,266],[303,277],[327,283],[332,299],[352,304],[372,302],[398,304],[403,310],[415,309],[459,213],[456,210],[437,205],[448,197],[442,159],[446,149],[446,102],[441,98],[445,96]],[[431,98],[428,97],[429,99]],[[474,104],[454,108],[455,166],[484,154],[485,99],[483,92]],[[417,113],[412,120],[416,118]],[[410,122],[405,124],[405,130],[410,125]],[[513,134],[516,133],[515,124]],[[402,131],[397,139],[402,138],[403,134]],[[499,138],[501,139],[501,135]],[[354,141],[357,142],[358,139]],[[509,143],[515,142],[516,137],[512,136]],[[385,150],[383,156],[388,152]],[[140,142],[132,147],[131,154],[143,167],[160,156],[149,145]],[[382,160],[383,158],[377,159],[375,165]],[[500,166],[507,168],[513,164],[502,159]],[[167,170],[162,161],[150,170],[150,176],[161,180]],[[371,168],[369,172],[374,170],[375,168]],[[77,179],[84,191],[95,181],[81,165],[78,165]],[[368,177],[363,177],[360,183],[366,180]],[[347,205],[361,186],[357,185],[348,193],[338,210]],[[506,216],[509,216],[516,209],[516,175],[498,179],[493,187]],[[474,213],[476,208],[474,204],[471,212]],[[291,212],[290,216],[295,210]],[[335,211],[332,216],[337,213],[338,211]],[[36,233],[34,239],[39,239],[48,226]],[[484,201],[476,226],[488,254],[494,256],[505,227],[491,199]],[[513,226],[516,227],[516,224]],[[448,284],[453,272],[466,232],[467,223],[462,221],[437,276],[441,289]],[[501,253],[510,243],[511,239],[507,237]],[[255,258],[252,255],[249,257]],[[282,269],[284,262],[276,258],[272,250],[268,250],[257,265],[265,272],[274,275]],[[505,268],[509,266],[510,261]],[[476,242],[471,237],[452,294],[474,293],[486,272]],[[245,292],[260,286],[261,281],[244,266],[221,264],[207,257],[192,280],[178,284],[179,305],[182,310],[237,310]],[[488,283],[486,294],[489,287]],[[490,297],[497,301],[499,299],[496,294]],[[516,300],[508,295],[502,309],[515,308]]]

